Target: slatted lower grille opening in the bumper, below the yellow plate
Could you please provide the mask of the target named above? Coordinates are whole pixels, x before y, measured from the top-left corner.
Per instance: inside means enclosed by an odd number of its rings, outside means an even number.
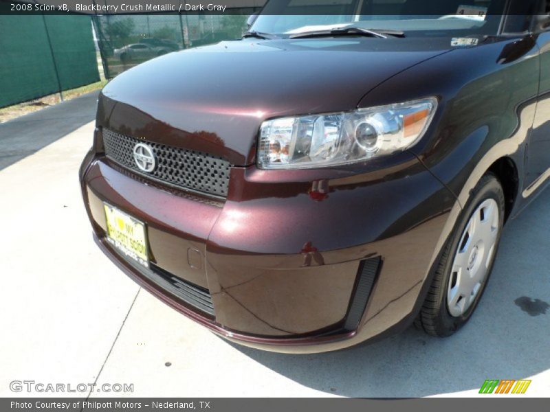
[[[150,264],[151,270],[145,273],[153,282],[162,286],[168,292],[173,293],[182,301],[197,308],[201,312],[214,316],[212,297],[208,289],[201,288],[184,279],[175,277],[172,273],[165,271],[155,264]]]

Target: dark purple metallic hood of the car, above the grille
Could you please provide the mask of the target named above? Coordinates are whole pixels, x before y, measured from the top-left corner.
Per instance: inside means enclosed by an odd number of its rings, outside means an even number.
[[[222,42],[155,58],[104,87],[98,126],[254,161],[265,119],[347,111],[391,76],[443,54],[449,41],[316,38]]]

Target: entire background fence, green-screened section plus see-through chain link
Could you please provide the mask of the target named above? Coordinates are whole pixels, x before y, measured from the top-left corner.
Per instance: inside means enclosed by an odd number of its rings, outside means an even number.
[[[0,3],[0,12],[5,3]],[[227,14],[1,14],[0,108],[98,82],[181,49],[241,38],[261,7]],[[5,10],[4,10],[5,11]]]

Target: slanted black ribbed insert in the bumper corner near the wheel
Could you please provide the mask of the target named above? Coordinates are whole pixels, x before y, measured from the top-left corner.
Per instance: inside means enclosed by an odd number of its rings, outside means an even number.
[[[373,285],[380,270],[382,258],[366,259],[362,262],[359,268],[359,276],[355,285],[355,293],[351,299],[346,321],[344,322],[344,330],[356,330],[359,326],[361,318],[366,308],[366,303],[369,301]]]

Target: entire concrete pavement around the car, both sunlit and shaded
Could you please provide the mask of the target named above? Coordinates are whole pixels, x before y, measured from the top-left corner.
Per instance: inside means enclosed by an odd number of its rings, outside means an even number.
[[[0,145],[17,127],[0,125]],[[342,352],[272,354],[214,336],[100,253],[77,179],[92,130],[0,170],[0,396],[18,395],[12,380],[133,384],[120,396],[475,396],[489,378],[529,378],[527,396],[548,396],[550,190],[505,228],[485,296],[455,336],[410,328]],[[19,393],[43,395],[58,393]]]

